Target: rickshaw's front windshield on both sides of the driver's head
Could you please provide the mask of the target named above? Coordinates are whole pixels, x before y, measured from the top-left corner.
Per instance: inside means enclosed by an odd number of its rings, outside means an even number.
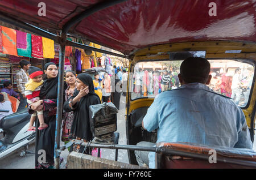
[[[254,66],[238,59],[214,59],[210,62],[212,79],[208,87],[233,98],[241,108],[247,105],[253,88]],[[131,100],[154,98],[163,91],[180,87],[178,74],[183,61],[143,61],[134,67],[130,79]]]

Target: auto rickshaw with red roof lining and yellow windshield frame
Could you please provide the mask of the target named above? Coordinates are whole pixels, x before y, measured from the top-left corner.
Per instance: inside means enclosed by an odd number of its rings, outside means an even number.
[[[126,93],[127,145],[89,145],[98,148],[127,149],[130,165],[106,162],[89,155],[72,152],[71,168],[134,168],[138,166],[134,150],[156,152],[156,168],[255,168],[256,153],[242,149],[215,148],[217,164],[210,164],[213,147],[186,143],[160,143],[154,148],[137,147],[142,140],[156,141],[156,132],[144,131],[141,121],[154,97],[162,91],[154,86],[143,87],[140,69],[158,75],[170,72],[172,83],[167,90],[179,87],[175,76],[180,63],[193,55],[205,57],[212,65],[215,77],[210,87],[230,96],[230,80],[236,68],[241,68],[242,85],[237,104],[243,110],[251,141],[255,127],[255,64],[256,29],[254,1],[1,1],[0,20],[31,33],[50,38],[61,46],[55,166],[59,168],[60,129],[63,113],[62,92],[65,46],[93,50],[129,59]],[[46,7],[46,8],[44,8]],[[42,12],[46,12],[45,14]],[[39,13],[40,12],[40,13]],[[118,50],[122,54],[93,48],[66,40],[67,36],[84,38],[96,44]],[[140,82],[140,80],[142,82]],[[159,79],[158,79],[159,80]],[[220,83],[221,80],[221,83]],[[225,82],[225,83],[224,83]],[[151,82],[154,84],[154,82]],[[160,89],[160,91],[159,91]],[[164,90],[166,90],[164,88]],[[185,133],[185,132],[184,132]],[[88,145],[88,144],[87,144]],[[81,162],[81,159],[84,159]],[[71,161],[72,160],[72,161]],[[97,165],[86,165],[92,162]],[[79,165],[80,164],[80,165]]]

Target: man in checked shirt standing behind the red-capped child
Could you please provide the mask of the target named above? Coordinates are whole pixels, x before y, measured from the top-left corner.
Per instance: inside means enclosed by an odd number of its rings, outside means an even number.
[[[27,105],[27,100],[25,97],[25,84],[28,82],[28,72],[27,70],[30,68],[31,64],[30,62],[26,60],[22,60],[19,62],[20,65],[20,70],[16,73],[16,80],[17,80],[17,88],[19,91],[19,97],[20,97],[20,103],[19,103],[19,110],[22,110],[26,107]]]

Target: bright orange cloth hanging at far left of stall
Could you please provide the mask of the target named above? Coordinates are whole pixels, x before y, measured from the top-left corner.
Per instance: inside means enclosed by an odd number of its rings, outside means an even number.
[[[11,28],[2,26],[2,42],[3,42],[3,54],[16,55],[16,31]]]

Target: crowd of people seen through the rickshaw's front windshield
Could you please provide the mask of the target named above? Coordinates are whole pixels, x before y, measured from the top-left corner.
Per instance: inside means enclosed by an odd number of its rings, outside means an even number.
[[[238,105],[241,94],[244,95],[243,105],[247,104],[250,88],[253,80],[253,68],[247,69],[247,74],[241,75],[241,68],[237,68],[234,73],[210,72],[212,79],[209,87],[214,92],[231,97]],[[137,97],[156,96],[160,92],[176,89],[180,87],[178,75],[179,71],[151,71],[139,68],[133,75],[132,92]]]

